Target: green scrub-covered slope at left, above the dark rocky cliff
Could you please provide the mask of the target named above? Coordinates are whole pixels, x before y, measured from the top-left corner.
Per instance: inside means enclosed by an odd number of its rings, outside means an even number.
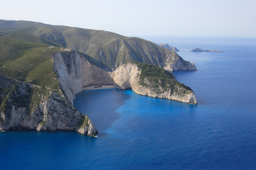
[[[23,35],[20,34],[11,36],[23,39]],[[58,89],[52,56],[62,50],[40,41],[28,42],[7,38],[6,35],[0,35],[0,73],[19,81]],[[33,38],[31,40],[36,40]]]

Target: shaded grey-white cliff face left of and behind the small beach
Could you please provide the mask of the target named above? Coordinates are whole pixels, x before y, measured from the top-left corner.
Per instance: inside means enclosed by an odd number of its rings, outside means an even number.
[[[90,85],[113,85],[107,72],[90,64],[77,52],[56,52],[53,56],[55,73],[65,97],[73,103],[75,94]]]

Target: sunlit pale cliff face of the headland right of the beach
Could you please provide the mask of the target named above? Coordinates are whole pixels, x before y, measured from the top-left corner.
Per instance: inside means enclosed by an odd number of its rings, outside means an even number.
[[[132,89],[136,94],[144,96],[167,98],[169,100],[191,104],[197,103],[193,91],[188,91],[182,86],[175,86],[172,89],[171,85],[168,87],[168,84],[166,85],[167,87],[163,87],[160,85],[161,82],[154,82],[149,79],[144,79],[142,85],[139,83],[139,74],[139,67],[133,63],[123,64],[114,72],[110,72],[111,77],[114,79],[114,86],[117,89]]]

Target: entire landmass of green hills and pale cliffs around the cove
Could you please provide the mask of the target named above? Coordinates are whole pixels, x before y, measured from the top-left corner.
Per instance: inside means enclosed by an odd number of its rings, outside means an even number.
[[[176,52],[103,30],[0,20],[0,130],[97,135],[74,106],[83,89],[110,86],[196,104],[171,73],[196,70]],[[14,67],[15,66],[15,67]]]

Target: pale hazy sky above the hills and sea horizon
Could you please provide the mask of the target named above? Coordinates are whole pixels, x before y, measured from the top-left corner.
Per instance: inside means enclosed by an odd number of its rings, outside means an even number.
[[[256,0],[1,0],[0,17],[127,36],[256,37]]]

